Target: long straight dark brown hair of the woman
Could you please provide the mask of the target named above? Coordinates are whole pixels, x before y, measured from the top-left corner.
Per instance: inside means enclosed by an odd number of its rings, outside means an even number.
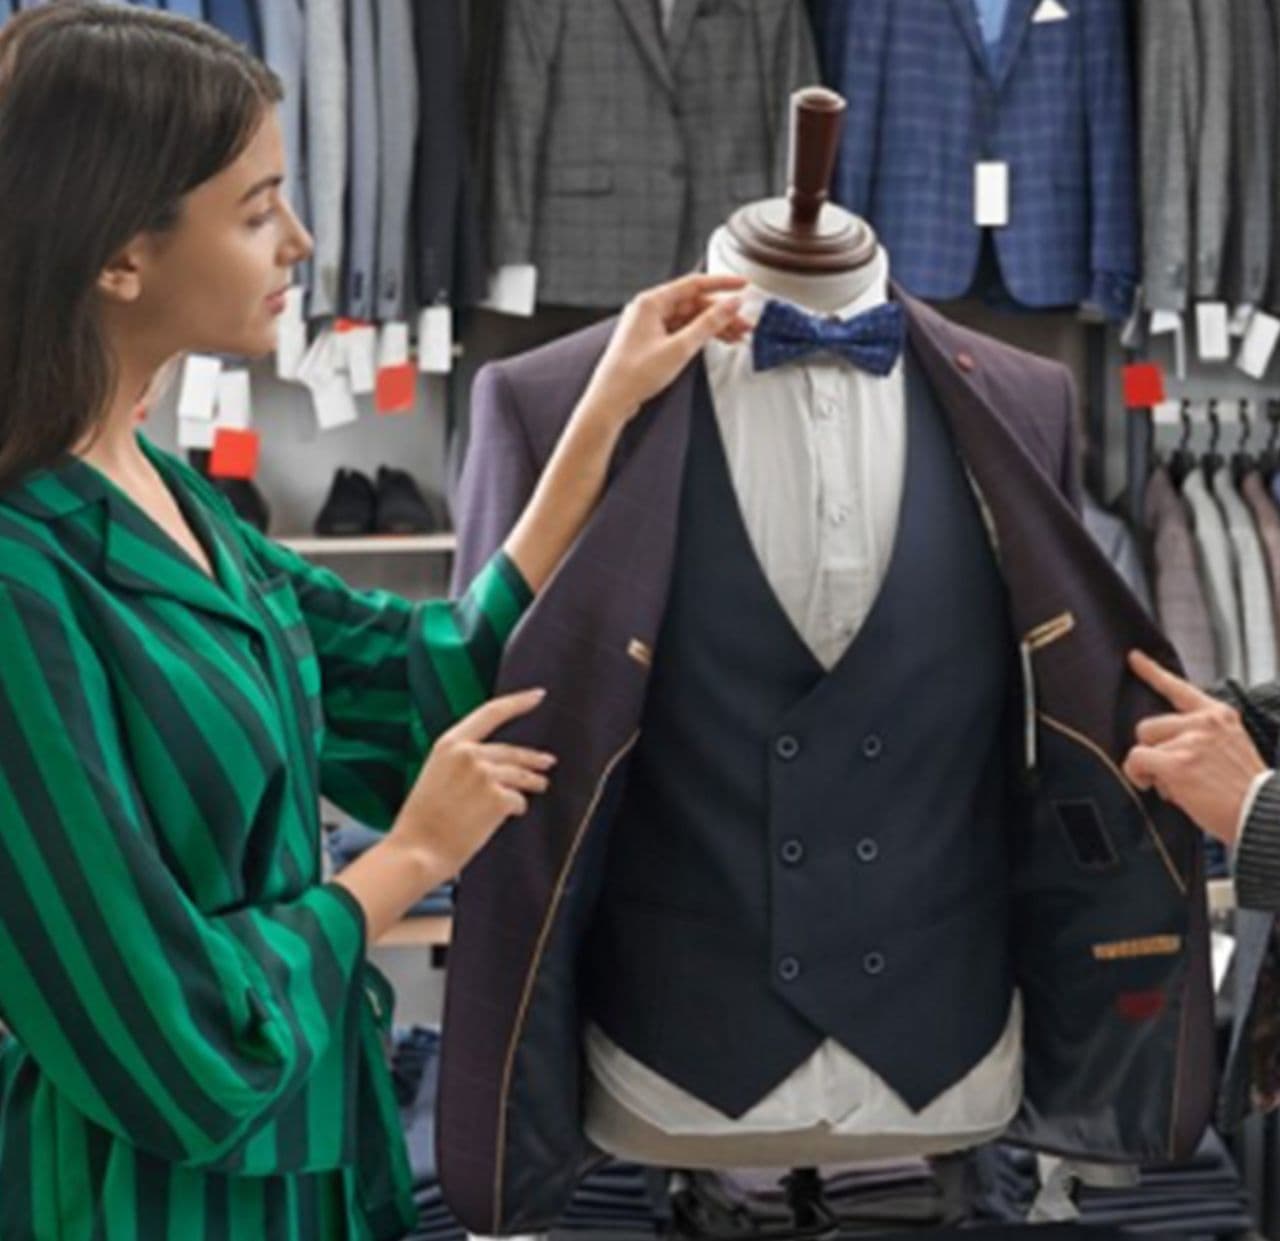
[[[52,464],[115,384],[96,283],[243,151],[279,79],[211,27],[52,0],[0,28],[0,487]]]

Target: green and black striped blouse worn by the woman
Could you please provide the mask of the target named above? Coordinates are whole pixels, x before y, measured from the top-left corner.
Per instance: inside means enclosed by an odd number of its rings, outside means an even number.
[[[320,881],[530,603],[355,592],[141,440],[205,574],[78,461],[0,493],[0,1238],[398,1237],[393,995]]]

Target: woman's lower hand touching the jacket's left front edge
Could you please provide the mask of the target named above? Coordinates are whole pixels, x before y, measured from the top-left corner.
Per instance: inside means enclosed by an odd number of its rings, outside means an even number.
[[[493,699],[439,737],[404,802],[389,839],[433,860],[454,876],[529,798],[550,787],[556,757],[522,746],[493,745],[504,724],[536,710],[545,691]]]

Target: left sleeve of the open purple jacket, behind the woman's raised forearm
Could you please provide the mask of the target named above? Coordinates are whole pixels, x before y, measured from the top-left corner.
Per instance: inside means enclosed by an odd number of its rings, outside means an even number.
[[[458,550],[453,594],[461,595],[503,545],[538,485],[538,463],[502,368],[489,363],[471,394],[471,443],[458,481]]]

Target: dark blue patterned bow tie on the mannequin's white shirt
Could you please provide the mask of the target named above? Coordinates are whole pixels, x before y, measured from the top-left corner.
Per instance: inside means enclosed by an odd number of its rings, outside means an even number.
[[[787,302],[769,301],[751,340],[758,371],[772,371],[813,353],[835,353],[872,375],[888,375],[906,345],[901,302],[884,302],[852,319],[822,319]]]

